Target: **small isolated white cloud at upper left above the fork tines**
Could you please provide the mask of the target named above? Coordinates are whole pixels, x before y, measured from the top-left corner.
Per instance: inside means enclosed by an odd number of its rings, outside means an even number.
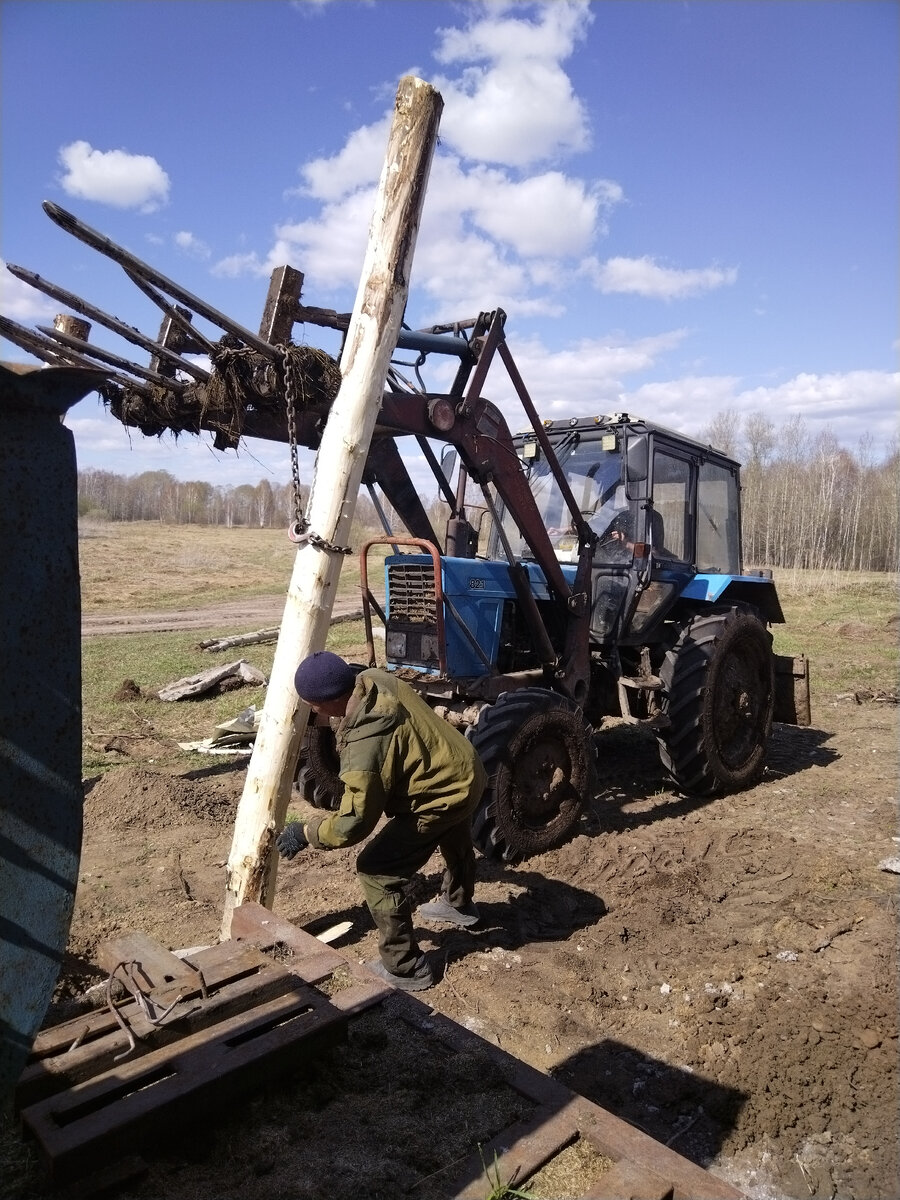
[[[66,168],[62,190],[70,196],[142,212],[154,212],[169,198],[169,176],[149,155],[72,142],[61,148],[59,160]]]

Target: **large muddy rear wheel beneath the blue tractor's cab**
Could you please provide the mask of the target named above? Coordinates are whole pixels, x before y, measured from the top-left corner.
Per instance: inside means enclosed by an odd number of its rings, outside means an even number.
[[[774,707],[772,635],[751,610],[695,617],[660,670],[668,726],[660,757],[683,792],[752,787],[766,769]]]

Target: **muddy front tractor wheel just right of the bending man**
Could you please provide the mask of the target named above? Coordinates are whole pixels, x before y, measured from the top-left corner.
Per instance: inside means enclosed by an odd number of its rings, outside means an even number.
[[[488,776],[472,826],[485,858],[514,863],[571,836],[596,780],[594,733],[574,701],[504,692],[468,737]]]

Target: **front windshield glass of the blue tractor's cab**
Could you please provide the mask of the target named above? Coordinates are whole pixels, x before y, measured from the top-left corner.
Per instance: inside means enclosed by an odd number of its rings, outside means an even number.
[[[598,535],[594,562],[622,562],[623,542],[613,534],[632,534],[634,512],[625,499],[620,451],[618,448],[604,450],[599,440],[587,440],[574,431],[557,443],[554,449],[575,503]],[[557,550],[557,557],[575,562],[577,540],[571,514],[546,458],[536,455],[533,458],[526,457],[524,463],[532,494]],[[503,529],[515,554],[530,557],[518,527],[505,510]]]

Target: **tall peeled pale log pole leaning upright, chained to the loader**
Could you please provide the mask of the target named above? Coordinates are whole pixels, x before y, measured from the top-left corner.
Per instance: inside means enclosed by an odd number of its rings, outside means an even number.
[[[307,541],[296,552],[265,704],[247,767],[228,858],[222,937],[245,901],[271,907],[284,822],[308,706],[294,691],[298,664],[325,646],[347,545],[391,355],[397,344],[413,252],[444,102],[413,76],[400,82],[368,247],[341,356],[342,383],[316,455]],[[320,539],[320,540],[319,540]]]

